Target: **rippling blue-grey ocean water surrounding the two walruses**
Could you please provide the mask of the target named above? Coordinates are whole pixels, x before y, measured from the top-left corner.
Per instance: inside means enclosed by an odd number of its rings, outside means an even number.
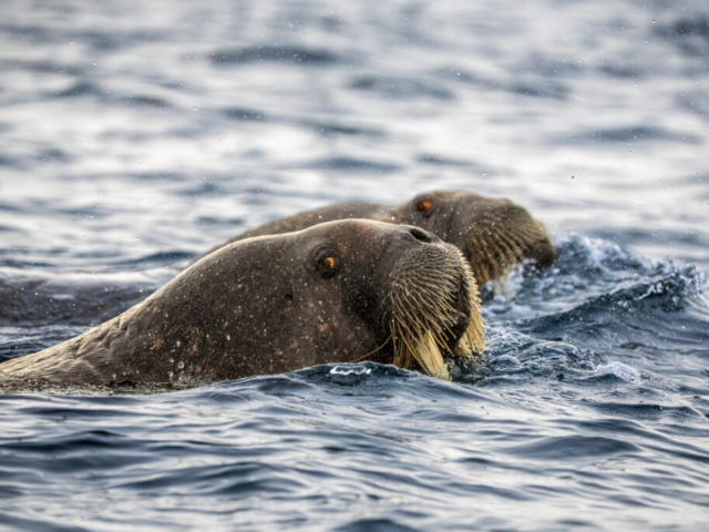
[[[0,2],[0,360],[266,221],[506,196],[484,367],[0,396],[0,529],[705,530],[703,0]]]

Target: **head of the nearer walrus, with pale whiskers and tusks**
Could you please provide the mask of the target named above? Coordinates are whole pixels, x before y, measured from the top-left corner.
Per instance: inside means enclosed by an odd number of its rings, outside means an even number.
[[[372,339],[377,345],[342,361],[370,358],[448,379],[444,354],[482,354],[477,285],[455,246],[419,227],[364,219],[320,224],[292,235],[312,241],[304,244],[312,246],[309,256],[318,278],[305,283],[308,290],[296,291],[301,307],[327,308],[325,317],[317,311],[311,316],[325,325],[320,332],[330,327],[370,330],[361,345],[371,346]],[[356,344],[346,341],[333,350],[354,355],[361,351]]]

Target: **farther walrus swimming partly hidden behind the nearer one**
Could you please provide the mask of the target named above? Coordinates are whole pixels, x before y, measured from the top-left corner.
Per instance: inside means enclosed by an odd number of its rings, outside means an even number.
[[[463,253],[479,286],[499,279],[506,275],[512,266],[524,260],[538,267],[548,266],[555,255],[546,228],[525,208],[510,200],[481,196],[466,191],[429,192],[399,205],[331,205],[268,222],[232,238],[226,244],[347,218],[414,225],[435,234]],[[222,245],[212,252],[220,247]]]

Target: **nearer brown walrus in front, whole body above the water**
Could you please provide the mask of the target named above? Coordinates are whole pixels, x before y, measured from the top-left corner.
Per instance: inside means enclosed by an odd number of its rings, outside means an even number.
[[[199,385],[369,359],[448,379],[484,349],[458,248],[413,226],[349,219],[240,239],[85,334],[0,365],[0,383]]]

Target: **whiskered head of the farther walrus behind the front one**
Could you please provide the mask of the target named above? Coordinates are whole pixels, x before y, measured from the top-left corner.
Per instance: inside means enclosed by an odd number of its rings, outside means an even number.
[[[400,223],[417,225],[454,244],[480,285],[523,260],[548,266],[554,246],[544,225],[508,200],[467,191],[420,194],[397,208]]]

